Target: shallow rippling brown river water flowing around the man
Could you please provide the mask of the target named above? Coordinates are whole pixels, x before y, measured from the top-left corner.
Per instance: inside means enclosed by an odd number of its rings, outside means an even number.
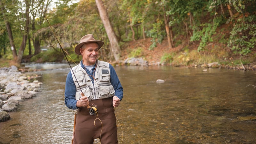
[[[36,97],[9,113],[11,120],[0,123],[0,144],[71,143],[75,111],[64,103],[68,64],[27,66],[46,69],[34,72],[43,85]],[[255,71],[114,68],[124,87],[115,108],[119,144],[255,143]]]

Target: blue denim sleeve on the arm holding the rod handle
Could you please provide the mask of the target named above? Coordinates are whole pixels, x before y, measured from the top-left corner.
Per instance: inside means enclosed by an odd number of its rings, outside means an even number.
[[[69,71],[65,85],[65,104],[70,109],[77,109],[76,101],[76,85],[73,81],[71,71]]]

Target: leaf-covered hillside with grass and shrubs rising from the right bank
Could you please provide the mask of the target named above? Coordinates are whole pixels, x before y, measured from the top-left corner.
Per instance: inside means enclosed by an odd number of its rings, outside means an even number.
[[[163,61],[164,55],[174,53],[171,63],[165,61],[165,65],[207,67],[207,63],[218,62],[219,65],[215,66],[216,68],[256,70],[256,52],[241,56],[231,52],[225,44],[217,42],[209,43],[205,50],[201,52],[197,52],[199,42],[191,43],[190,46],[183,42],[183,44],[170,49],[168,48],[167,39],[164,39],[161,44],[157,44],[157,47],[153,50],[149,50],[150,40],[150,38],[139,39],[123,45],[121,48],[122,59],[125,60],[131,57],[131,52],[140,49],[138,57],[147,60],[149,65],[157,65],[157,63]]]

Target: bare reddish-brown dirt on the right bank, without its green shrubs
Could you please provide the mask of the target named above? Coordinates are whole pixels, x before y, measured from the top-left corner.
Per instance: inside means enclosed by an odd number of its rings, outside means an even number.
[[[183,38],[181,38],[183,39]],[[135,49],[142,49],[141,51],[141,57],[143,57],[144,60],[148,61],[149,65],[156,65],[159,64],[161,61],[161,58],[166,53],[175,53],[180,54],[184,52],[184,48],[187,47],[189,51],[197,50],[197,47],[199,46],[199,42],[193,42],[190,43],[188,46],[187,42],[183,41],[182,44],[179,44],[176,47],[169,48],[167,39],[164,39],[161,44],[157,44],[155,48],[149,50],[150,45],[152,44],[151,38],[146,39],[139,39],[136,41],[129,42],[122,46],[122,60],[125,60],[129,58],[129,54],[135,50]],[[217,47],[217,48],[216,48]],[[200,52],[202,55],[215,55],[217,58],[217,61],[219,61],[219,64],[214,66],[215,68],[230,68],[230,69],[242,69],[242,70],[256,70],[256,60],[253,60],[253,55],[255,55],[256,52],[252,52],[251,54],[248,54],[247,56],[241,57],[241,55],[234,54],[231,52],[230,48],[228,48],[225,44],[220,43],[210,43],[205,47],[205,50]],[[220,56],[221,54],[224,55],[225,53],[226,57],[225,60],[223,56]],[[248,61],[247,63],[243,64],[242,61]],[[196,61],[196,60],[195,60]],[[237,62],[239,61],[239,62]],[[216,62],[216,61],[211,61]],[[208,63],[211,63],[208,62]],[[236,63],[236,64],[235,64]],[[186,66],[186,67],[208,67],[207,63],[193,63],[188,65],[175,65],[175,64],[168,64],[172,66]]]

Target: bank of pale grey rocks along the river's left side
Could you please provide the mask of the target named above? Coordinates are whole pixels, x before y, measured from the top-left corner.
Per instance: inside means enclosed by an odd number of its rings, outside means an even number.
[[[16,66],[0,68],[0,122],[9,120],[8,112],[16,111],[21,101],[36,96],[42,84],[37,80],[30,81],[37,76],[27,76]]]

